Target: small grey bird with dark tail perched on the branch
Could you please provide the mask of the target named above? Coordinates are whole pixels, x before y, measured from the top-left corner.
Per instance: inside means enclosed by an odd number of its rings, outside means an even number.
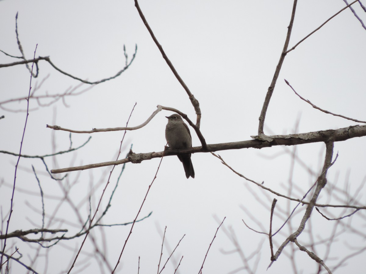
[[[172,114],[168,118],[168,123],[165,128],[165,139],[168,141],[169,148],[184,149],[192,147],[192,137],[186,123],[178,114]],[[177,155],[178,159],[183,163],[184,171],[187,179],[189,176],[194,178],[194,169],[191,161],[191,153]]]

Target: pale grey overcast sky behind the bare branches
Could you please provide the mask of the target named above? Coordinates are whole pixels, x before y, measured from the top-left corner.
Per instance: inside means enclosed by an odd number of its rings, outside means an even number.
[[[292,1],[141,0],[139,4],[165,53],[200,103],[201,131],[206,142],[216,144],[251,140],[250,136],[257,135],[258,117],[283,49]],[[290,47],[345,5],[341,0],[299,1]],[[365,12],[357,3],[354,8],[365,22]],[[129,126],[144,122],[156,110],[157,105],[176,108],[195,121],[195,112],[186,92],[161,57],[134,7],[134,1],[0,1],[0,49],[13,56],[20,56],[15,36],[17,12],[19,39],[26,58],[33,58],[38,44],[36,57],[49,56],[57,67],[81,79],[97,81],[115,75],[125,65],[123,46],[126,46],[128,58],[131,58],[137,45],[135,60],[116,79],[98,84],[81,95],[69,96],[64,103],[59,100],[51,106],[40,107],[36,100],[30,100],[30,109],[37,109],[31,111],[28,117],[22,154],[45,155],[52,153],[52,149],[63,151],[70,147],[69,133],[53,131],[46,128],[46,124],[75,130],[125,126],[135,102],[137,105]],[[294,94],[284,79],[300,95],[317,106],[333,113],[365,120],[365,45],[366,30],[352,12],[346,9],[288,53],[267,111],[265,134],[302,133],[359,124],[313,109]],[[1,64],[14,61],[18,60],[0,53]],[[38,65],[39,76],[32,79],[32,87],[48,77],[37,90],[38,95],[60,94],[80,83],[60,74],[45,61],[40,61]],[[1,68],[0,83],[1,102],[24,98],[29,90],[29,72],[25,66]],[[78,90],[88,87],[84,84]],[[49,100],[41,101],[43,104],[47,102]],[[2,104],[1,107],[25,110],[26,101]],[[127,132],[120,159],[125,157],[131,145],[135,153],[163,151],[166,144],[165,116],[170,114],[171,112],[161,111],[144,128]],[[5,115],[5,118],[0,120],[0,150],[18,153],[25,112],[0,109],[1,115]],[[199,146],[200,142],[193,129],[191,133],[193,146]],[[59,155],[56,160],[46,159],[49,169],[116,159],[123,132],[90,135],[73,133],[72,146],[83,144],[89,136],[92,137],[91,141],[82,149]],[[292,165],[291,153],[294,153],[294,149],[301,161],[297,160]],[[339,152],[339,158],[328,172],[329,188],[347,188],[351,195],[358,190],[358,202],[365,205],[365,188],[358,189],[365,178],[364,138],[337,142],[336,152]],[[291,196],[302,198],[319,175],[324,162],[325,145],[314,143],[217,153],[247,178],[264,182],[266,187],[283,194],[288,194],[288,186],[293,185]],[[14,156],[0,154],[0,201],[3,215],[10,208],[16,160]],[[112,206],[104,217],[104,224],[133,220],[154,178],[159,161],[160,158],[156,158],[141,164],[126,165]],[[163,159],[140,217],[153,213],[135,225],[118,273],[137,273],[138,256],[141,257],[140,273],[155,272],[160,256],[161,231],[164,231],[165,226],[165,241],[172,248],[186,234],[175,253],[178,262],[184,256],[179,266],[180,273],[198,273],[219,225],[214,216],[220,221],[227,217],[224,225],[226,229],[232,227],[235,231],[246,256],[264,242],[258,253],[260,261],[257,273],[265,273],[270,263],[268,239],[265,235],[246,228],[242,219],[259,231],[262,231],[262,227],[268,229],[270,205],[272,199],[278,197],[244,181],[210,153],[193,154],[192,162],[195,178],[187,180],[176,156]],[[42,216],[32,208],[41,209],[40,190],[31,171],[32,164],[48,195],[45,198],[48,214],[52,214],[59,198],[63,196],[60,182],[49,178],[40,160],[20,159],[10,232],[41,226]],[[87,196],[90,189],[96,187],[91,197],[93,211],[111,168],[70,172],[67,179],[60,183],[67,185],[75,182],[70,198],[80,206],[83,221],[86,221],[89,214]],[[121,168],[117,166],[113,171],[111,184],[102,200],[104,207]],[[58,175],[58,178],[61,176]],[[334,196],[327,199],[329,196],[325,193],[320,197],[320,203],[344,203]],[[286,199],[278,199],[277,207],[283,210],[292,210],[296,206],[296,203],[288,203]],[[304,209],[305,207],[299,208],[291,219],[291,227],[286,226],[283,233],[277,236],[275,251],[296,230]],[[351,213],[342,210],[329,212],[335,217]],[[250,214],[255,216],[255,220]],[[365,217],[365,213],[359,214]],[[61,207],[56,216],[67,219],[72,224],[79,224],[67,205]],[[356,227],[364,224],[365,219],[363,222],[360,220],[362,217],[354,217]],[[5,224],[6,221],[3,231]],[[276,230],[282,224],[280,217],[274,218]],[[333,228],[325,229],[329,221],[317,212],[313,213],[311,224],[308,225],[317,240],[325,239]],[[80,226],[73,227],[66,223],[53,222],[49,225],[49,228],[65,227],[70,230],[70,235],[80,230]],[[105,255],[113,267],[129,231],[130,226],[108,227],[105,228],[105,238],[100,236],[99,231],[93,232],[98,243],[101,246],[105,244]],[[301,240],[305,245],[307,234]],[[352,247],[364,246],[360,237],[349,234],[340,237],[331,247],[331,259],[325,261],[328,266],[336,265],[344,256],[353,252],[346,248],[346,241]],[[24,255],[22,260],[27,263],[28,254],[33,254],[31,247],[36,245],[9,241],[7,247],[12,243],[20,248]],[[61,273],[68,270],[75,256],[74,250],[80,244],[81,239],[52,247],[48,268],[42,264],[42,260],[34,268],[40,273]],[[296,250],[296,247],[290,245],[285,248],[287,254],[293,252],[292,248]],[[223,229],[220,229],[206,259],[203,273],[229,273],[243,266],[238,254],[221,252],[233,249],[234,246]],[[89,239],[85,251],[93,252]],[[324,248],[318,247],[315,251],[321,258],[325,256]],[[162,261],[165,262],[168,257],[165,248],[163,253]],[[362,273],[360,271],[364,271],[364,267],[361,268],[360,265],[364,263],[359,259],[360,257],[351,259],[339,271]],[[84,265],[80,259],[77,263],[79,265],[75,267],[74,273],[101,271],[98,267],[101,263],[96,260]],[[317,270],[316,263],[300,251],[296,252],[295,263],[300,273],[315,273]],[[254,260],[250,261],[250,265],[253,264]],[[12,262],[12,267],[12,273],[25,272],[15,262]],[[166,268],[165,273],[173,273],[176,265],[168,263]],[[267,273],[284,273],[284,268],[289,269],[288,273],[293,272],[285,254]],[[104,270],[108,273],[108,268]],[[246,272],[242,270],[238,273]]]

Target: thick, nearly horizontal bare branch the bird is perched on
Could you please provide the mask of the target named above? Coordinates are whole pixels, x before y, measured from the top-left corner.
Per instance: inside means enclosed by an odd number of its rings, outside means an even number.
[[[288,135],[273,135],[267,136],[264,134],[258,136],[251,136],[254,140],[228,142],[221,144],[207,145],[207,150],[202,146],[195,146],[187,149],[167,149],[165,156],[178,155],[180,153],[198,153],[198,152],[214,152],[228,149],[242,149],[242,148],[267,148],[276,145],[301,145],[314,142],[339,142],[348,140],[354,137],[366,136],[366,125],[363,126],[349,126],[340,129],[320,130],[317,132],[288,134]],[[119,165],[128,162],[141,163],[144,160],[153,158],[160,158],[163,156],[161,152],[147,152],[147,153],[130,153],[127,158],[118,161],[109,161],[104,163],[82,165],[79,167],[61,168],[58,170],[51,170],[51,173],[63,173],[76,170],[86,170],[89,168],[106,167],[108,165]]]

